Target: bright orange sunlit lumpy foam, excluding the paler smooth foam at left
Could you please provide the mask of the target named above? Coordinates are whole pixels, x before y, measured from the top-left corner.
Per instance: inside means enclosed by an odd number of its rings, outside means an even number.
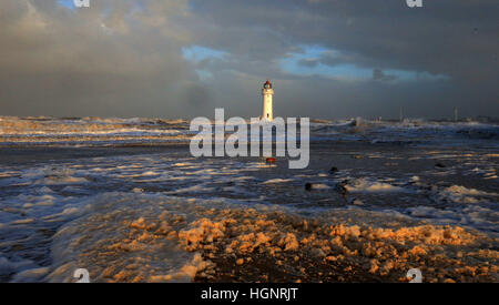
[[[214,220],[196,221],[191,224],[192,228],[179,233],[185,251],[201,252],[218,264],[233,261],[233,267],[251,265],[245,263],[247,256],[264,256],[285,268],[292,268],[298,261],[325,265],[334,262],[388,281],[406,281],[400,276],[413,266],[425,270],[426,278],[431,282],[449,277],[472,282],[477,281],[477,275],[487,278],[497,271],[493,265],[462,267],[476,264],[476,257],[461,255],[455,258],[456,246],[467,250],[482,238],[462,227],[318,225],[295,215],[262,214],[253,209],[220,212]],[[475,255],[483,256],[485,253]],[[317,258],[322,261],[314,262]]]

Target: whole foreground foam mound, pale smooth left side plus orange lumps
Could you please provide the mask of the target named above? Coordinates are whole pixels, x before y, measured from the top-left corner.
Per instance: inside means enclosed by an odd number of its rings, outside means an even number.
[[[94,266],[95,282],[406,282],[418,267],[425,282],[497,281],[499,254],[483,250],[497,238],[459,226],[358,211],[310,218],[220,200],[150,206],[133,196],[58,233],[61,271]]]

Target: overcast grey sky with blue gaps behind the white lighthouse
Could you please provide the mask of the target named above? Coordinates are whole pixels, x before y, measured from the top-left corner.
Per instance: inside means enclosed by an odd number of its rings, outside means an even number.
[[[499,116],[499,1],[0,0],[0,115]]]

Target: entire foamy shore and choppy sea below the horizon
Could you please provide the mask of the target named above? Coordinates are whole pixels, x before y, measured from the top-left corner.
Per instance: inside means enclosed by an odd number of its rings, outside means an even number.
[[[495,124],[316,121],[303,170],[193,157],[182,120],[0,126],[1,282],[499,279]]]

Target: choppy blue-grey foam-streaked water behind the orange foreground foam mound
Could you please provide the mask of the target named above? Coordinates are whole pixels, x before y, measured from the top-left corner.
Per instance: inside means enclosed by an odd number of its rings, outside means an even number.
[[[291,171],[286,160],[191,157],[181,120],[2,118],[0,281],[69,281],[78,255],[126,234],[119,224],[165,212],[191,222],[241,206],[381,212],[495,235],[498,134],[481,123],[316,122],[310,165]],[[167,241],[135,255],[172,272],[193,260]]]

